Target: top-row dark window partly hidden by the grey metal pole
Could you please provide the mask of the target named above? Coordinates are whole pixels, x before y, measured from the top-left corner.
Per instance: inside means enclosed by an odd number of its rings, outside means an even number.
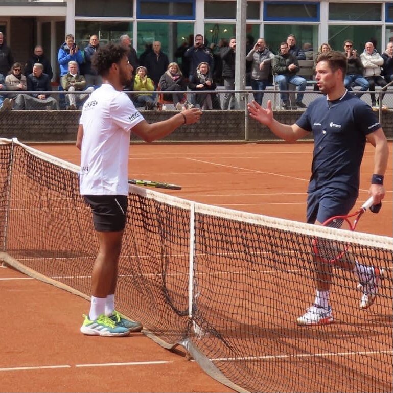
[[[234,0],[205,0],[206,19],[235,19],[236,20],[236,1]],[[247,19],[260,19],[260,3],[247,2]]]

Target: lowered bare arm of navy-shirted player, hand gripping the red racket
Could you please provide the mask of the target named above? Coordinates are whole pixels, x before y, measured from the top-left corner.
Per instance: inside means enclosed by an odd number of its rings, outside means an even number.
[[[389,157],[389,148],[382,128],[378,128],[378,130],[368,134],[367,140],[375,147],[373,174],[381,175],[382,183]],[[380,203],[385,196],[383,184],[372,183],[369,193],[374,197],[374,204]]]

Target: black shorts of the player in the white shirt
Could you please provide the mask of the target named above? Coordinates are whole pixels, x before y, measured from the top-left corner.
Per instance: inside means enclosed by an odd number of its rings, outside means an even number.
[[[84,195],[93,212],[97,232],[119,232],[126,226],[128,199],[126,195]]]

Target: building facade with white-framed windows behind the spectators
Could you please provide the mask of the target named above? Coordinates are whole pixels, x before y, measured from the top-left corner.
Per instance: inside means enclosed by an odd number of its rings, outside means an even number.
[[[158,40],[170,61],[181,63],[195,34],[202,33],[214,52],[222,40],[236,35],[236,7],[236,0],[0,0],[0,31],[22,64],[34,45],[42,44],[56,79],[57,51],[65,34],[74,34],[81,48],[91,34],[102,44],[128,34],[138,55]],[[246,51],[264,37],[276,53],[288,34],[315,52],[322,42],[342,50],[343,41],[351,39],[358,52],[373,40],[381,53],[393,40],[393,2],[247,1]]]

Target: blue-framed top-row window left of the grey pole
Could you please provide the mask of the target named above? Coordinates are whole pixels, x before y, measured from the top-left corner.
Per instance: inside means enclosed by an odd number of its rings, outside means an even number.
[[[195,19],[193,0],[138,0],[137,17],[141,19]]]

